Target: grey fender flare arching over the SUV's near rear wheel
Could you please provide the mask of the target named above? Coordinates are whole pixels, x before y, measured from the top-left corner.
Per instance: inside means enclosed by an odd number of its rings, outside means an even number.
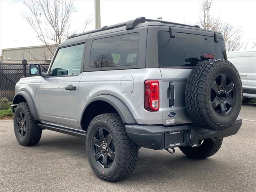
[[[94,101],[104,101],[112,105],[116,109],[118,114],[121,116],[124,123],[126,124],[136,123],[128,107],[119,98],[112,95],[107,95],[107,94],[96,96],[86,104],[84,111]],[[84,114],[84,111],[82,115]],[[81,119],[82,119],[82,115],[81,115]]]

